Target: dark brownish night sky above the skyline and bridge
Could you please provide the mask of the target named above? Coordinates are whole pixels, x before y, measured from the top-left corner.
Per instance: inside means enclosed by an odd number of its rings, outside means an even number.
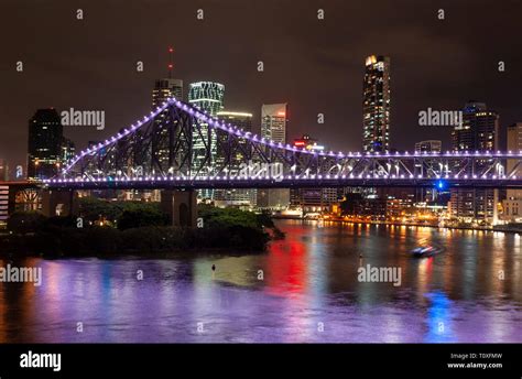
[[[0,158],[25,164],[37,108],[105,110],[105,130],[64,128],[78,148],[134,122],[166,76],[170,45],[185,91],[195,80],[225,84],[225,108],[253,112],[254,130],[263,102],[289,102],[289,140],[307,132],[342,151],[361,150],[365,57],[389,55],[391,145],[436,138],[447,149],[448,127],[420,127],[420,110],[475,99],[503,127],[522,121],[521,15],[522,1],[499,0],[1,0]]]

